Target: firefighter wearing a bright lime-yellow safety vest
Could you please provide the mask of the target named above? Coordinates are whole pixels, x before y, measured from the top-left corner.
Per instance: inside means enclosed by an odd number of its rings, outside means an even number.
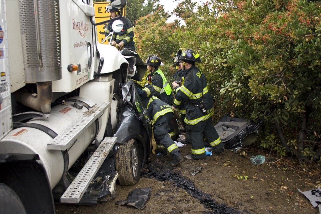
[[[155,96],[158,97],[161,101],[167,103],[172,106],[173,104],[173,92],[170,87],[164,73],[158,68],[161,64],[161,60],[156,55],[148,55],[145,64],[147,64],[147,70],[150,72],[148,77],[150,76],[150,84],[154,87]],[[176,121],[176,120],[175,120]],[[177,123],[176,123],[177,124]],[[176,140],[178,136],[176,136],[174,131],[174,126],[169,121],[169,135],[173,140]]]

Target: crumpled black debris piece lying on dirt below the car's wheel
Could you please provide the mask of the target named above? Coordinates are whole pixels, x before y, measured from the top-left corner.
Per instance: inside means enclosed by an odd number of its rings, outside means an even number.
[[[128,193],[126,200],[117,201],[115,204],[133,206],[138,210],[142,210],[146,206],[146,201],[151,198],[151,191],[151,187],[134,189]]]

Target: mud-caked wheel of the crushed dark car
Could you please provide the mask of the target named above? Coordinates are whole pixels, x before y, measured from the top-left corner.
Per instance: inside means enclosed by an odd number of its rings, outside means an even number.
[[[138,145],[134,139],[119,146],[116,152],[116,170],[121,185],[133,185],[139,181]]]

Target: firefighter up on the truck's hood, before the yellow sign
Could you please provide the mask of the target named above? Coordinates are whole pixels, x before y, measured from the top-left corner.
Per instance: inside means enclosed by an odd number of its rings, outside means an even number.
[[[110,5],[107,6],[107,11],[110,13],[111,19],[116,18],[120,15],[120,9]],[[116,46],[116,44],[118,44],[120,48],[124,47],[127,49],[135,50],[135,42],[133,40],[134,38],[133,25],[130,22],[130,20],[127,19],[125,16],[122,16],[120,20],[123,21],[124,28],[119,33],[114,32],[111,45]],[[108,22],[107,27],[105,28],[105,36],[108,36],[109,32],[112,31],[112,28],[111,28],[112,24],[113,22]],[[107,38],[107,39],[108,41],[110,40],[110,38]]]

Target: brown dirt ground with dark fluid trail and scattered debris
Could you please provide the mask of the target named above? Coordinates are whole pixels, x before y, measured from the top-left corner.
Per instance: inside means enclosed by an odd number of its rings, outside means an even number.
[[[190,154],[190,148],[189,144],[180,148],[182,155]],[[114,199],[96,206],[56,205],[56,213],[319,213],[298,191],[321,186],[319,165],[271,158],[250,146],[241,152],[225,150],[204,160],[185,160],[177,167],[169,167],[169,155],[151,154],[140,181],[117,185]],[[266,161],[254,165],[250,155],[264,155]],[[190,174],[200,166],[200,172]],[[142,210],[115,204],[135,188],[147,187],[151,187],[151,197]]]

